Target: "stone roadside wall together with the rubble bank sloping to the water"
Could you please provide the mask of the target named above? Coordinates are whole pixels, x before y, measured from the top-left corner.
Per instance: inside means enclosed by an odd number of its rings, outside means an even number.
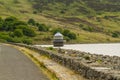
[[[46,55],[52,60],[74,70],[78,74],[89,80],[120,80],[119,66],[107,67],[107,65],[118,65],[120,58],[113,56],[103,56],[89,54],[78,51],[66,51],[63,54],[55,54],[47,51],[43,48],[37,48],[35,46],[14,44],[22,47],[26,47],[32,50],[38,51],[41,55]],[[70,54],[71,53],[71,54]],[[76,54],[77,53],[77,54]],[[79,54],[79,55],[78,55]],[[78,58],[79,57],[79,58]],[[91,59],[92,58],[92,59]],[[105,60],[104,62],[102,60]],[[94,62],[106,64],[104,66],[94,64]]]

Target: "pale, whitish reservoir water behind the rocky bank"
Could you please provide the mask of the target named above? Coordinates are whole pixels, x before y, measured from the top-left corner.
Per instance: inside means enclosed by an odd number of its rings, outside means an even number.
[[[52,45],[36,45],[42,47],[53,47]],[[102,43],[102,44],[68,44],[61,47],[63,49],[73,49],[91,54],[103,54],[120,57],[120,43]]]

